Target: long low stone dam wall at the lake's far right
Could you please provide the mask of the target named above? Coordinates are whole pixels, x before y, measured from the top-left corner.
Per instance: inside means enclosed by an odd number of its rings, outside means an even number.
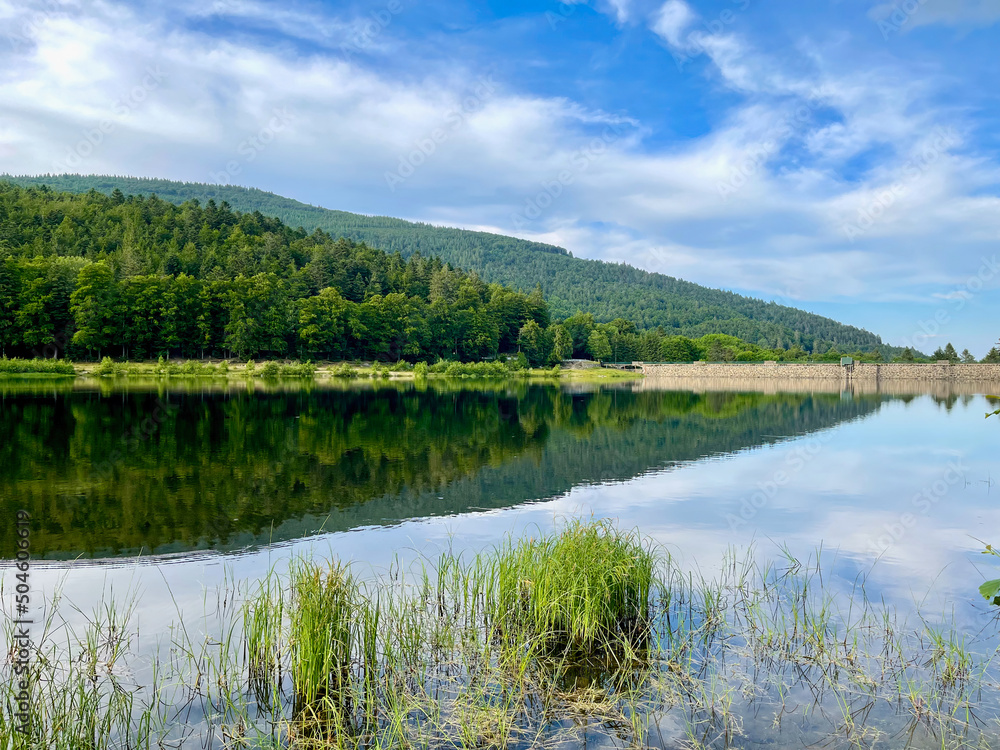
[[[692,364],[647,364],[633,366],[650,378],[711,380],[834,381],[837,383],[880,384],[894,381],[997,384],[1000,364],[868,364],[853,369],[836,363],[799,362],[695,362]]]

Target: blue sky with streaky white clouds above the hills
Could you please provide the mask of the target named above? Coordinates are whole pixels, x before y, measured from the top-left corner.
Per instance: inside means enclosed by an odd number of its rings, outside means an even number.
[[[0,172],[510,234],[981,357],[998,42],[1000,0],[0,0]]]

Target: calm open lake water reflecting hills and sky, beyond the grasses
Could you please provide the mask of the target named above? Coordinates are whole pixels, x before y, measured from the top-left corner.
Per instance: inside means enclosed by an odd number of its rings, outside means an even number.
[[[134,597],[140,653],[177,621],[211,637],[219,591],[293,556],[376,575],[573,518],[637,528],[706,577],[734,555],[818,561],[831,596],[862,581],[903,621],[931,613],[989,653],[977,589],[1000,577],[982,554],[1000,542],[1000,420],[986,395],[922,390],[0,380],[0,540],[11,560],[30,513],[39,617],[56,592],[70,622]],[[740,716],[742,737],[700,741],[806,737]],[[690,740],[682,724],[650,744]],[[914,736],[886,746],[937,735]]]

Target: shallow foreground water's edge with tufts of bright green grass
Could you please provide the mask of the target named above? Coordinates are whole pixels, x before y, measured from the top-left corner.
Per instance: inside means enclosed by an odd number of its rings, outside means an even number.
[[[295,559],[220,592],[218,630],[182,622],[160,658],[131,652],[134,603],[106,602],[69,638],[52,614],[32,735],[12,747],[1000,742],[992,647],[946,620],[900,620],[863,588],[838,600],[793,558],[733,557],[697,580],[637,533],[571,523],[362,573]],[[0,688],[8,707],[14,684]],[[9,712],[0,722],[11,737]]]

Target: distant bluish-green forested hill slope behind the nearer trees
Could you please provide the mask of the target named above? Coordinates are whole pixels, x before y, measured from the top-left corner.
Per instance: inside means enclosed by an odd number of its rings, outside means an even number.
[[[556,318],[584,310],[597,321],[624,318],[640,328],[663,326],[669,333],[689,337],[726,333],[768,348],[798,344],[814,352],[878,349],[888,356],[902,352],[883,344],[873,333],[820,315],[625,264],[574,258],[559,247],[503,235],[333,211],[232,185],[85,175],[0,175],[3,179],[75,193],[95,189],[110,194],[118,189],[125,194],[156,194],[175,204],[191,199],[225,201],[239,211],[276,216],[288,226],[309,232],[320,228],[333,237],[365,242],[404,257],[418,251],[424,257],[436,256],[452,266],[474,271],[488,282],[522,291],[540,283]]]

